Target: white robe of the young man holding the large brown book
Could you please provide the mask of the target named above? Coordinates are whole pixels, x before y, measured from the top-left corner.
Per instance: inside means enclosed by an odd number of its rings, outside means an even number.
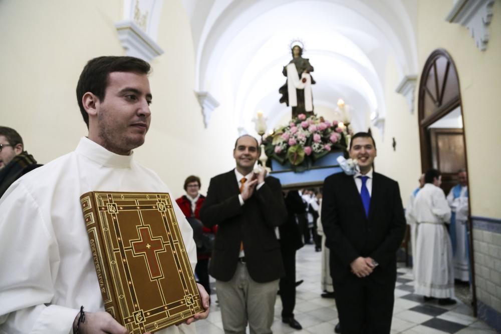
[[[72,333],[75,316],[104,310],[80,195],[170,192],[129,156],[82,138],[76,150],[15,182],[0,199],[0,333]],[[172,199],[193,268],[193,231]],[[194,325],[159,333],[196,332]]]

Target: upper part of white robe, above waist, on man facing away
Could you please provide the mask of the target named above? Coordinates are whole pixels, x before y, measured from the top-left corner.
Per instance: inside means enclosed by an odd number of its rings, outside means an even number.
[[[449,223],[450,208],[443,190],[426,183],[417,193],[410,215],[417,223]]]

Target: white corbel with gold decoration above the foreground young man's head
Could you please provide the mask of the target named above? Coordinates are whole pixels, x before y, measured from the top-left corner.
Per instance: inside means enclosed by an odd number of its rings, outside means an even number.
[[[124,0],[123,3],[124,20],[115,27],[126,55],[149,62],[163,54],[156,43],[163,0]]]

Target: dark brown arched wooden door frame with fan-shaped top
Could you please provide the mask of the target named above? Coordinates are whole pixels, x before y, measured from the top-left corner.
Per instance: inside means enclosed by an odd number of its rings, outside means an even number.
[[[430,78],[431,76],[431,78]],[[430,80],[429,80],[430,79]],[[463,145],[468,166],[466,152],[466,134],[464,131],[463,108],[461,104],[461,92],[457,68],[452,57],[444,49],[434,50],[424,64],[418,89],[418,126],[419,140],[421,146],[421,170],[424,173],[432,168],[431,143],[428,134],[428,127],[438,121],[455,108],[461,108],[461,120],[463,124]],[[469,189],[469,178],[468,178]],[[468,196],[468,207],[471,208]],[[472,303],[473,315],[477,315],[476,289],[475,289],[475,267],[473,259],[473,226],[470,214],[468,213],[469,234],[469,259],[471,270]]]

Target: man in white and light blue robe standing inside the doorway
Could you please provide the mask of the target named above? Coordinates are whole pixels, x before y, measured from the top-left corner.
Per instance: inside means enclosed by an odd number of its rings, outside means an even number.
[[[452,242],[452,261],[454,277],[468,282],[469,275],[469,237],[468,237],[468,181],[466,170],[457,173],[459,183],[447,195],[452,215],[450,217],[450,240]]]

